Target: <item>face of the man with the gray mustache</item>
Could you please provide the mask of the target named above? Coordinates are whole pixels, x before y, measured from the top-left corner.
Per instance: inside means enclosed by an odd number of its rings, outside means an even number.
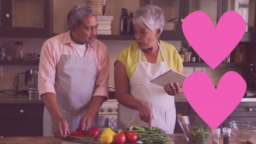
[[[92,44],[97,38],[98,22],[96,16],[84,17],[79,27],[70,26],[72,39],[77,44]]]

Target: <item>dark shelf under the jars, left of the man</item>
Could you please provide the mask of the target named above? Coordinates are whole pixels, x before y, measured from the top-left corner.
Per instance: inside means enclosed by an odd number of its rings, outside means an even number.
[[[39,65],[39,60],[36,61],[25,61],[25,60],[0,60],[0,65]]]

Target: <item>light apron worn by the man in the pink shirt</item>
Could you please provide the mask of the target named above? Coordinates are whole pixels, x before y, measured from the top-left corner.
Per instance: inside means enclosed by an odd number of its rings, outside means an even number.
[[[94,58],[63,55],[62,50],[60,61],[56,67],[54,86],[57,106],[62,117],[69,124],[69,131],[78,128],[80,118],[86,113],[91,102],[95,80],[96,63]],[[97,117],[96,115],[94,121]],[[96,123],[94,122],[94,124]],[[43,135],[53,136],[52,127],[53,120],[44,107]]]

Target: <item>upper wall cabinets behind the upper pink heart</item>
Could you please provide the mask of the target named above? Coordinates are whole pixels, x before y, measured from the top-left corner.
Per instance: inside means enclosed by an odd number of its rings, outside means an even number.
[[[178,17],[177,29],[174,31],[164,31],[161,35],[162,40],[185,40],[182,32],[182,21],[190,13],[200,10],[210,16],[214,26],[217,25],[220,17],[228,10],[235,10],[245,17],[247,23],[246,33],[241,42],[255,41],[256,22],[256,4],[254,0],[176,0],[176,1],[157,1],[144,0],[144,4],[158,5],[164,10],[166,21]],[[141,5],[143,6],[143,5]]]

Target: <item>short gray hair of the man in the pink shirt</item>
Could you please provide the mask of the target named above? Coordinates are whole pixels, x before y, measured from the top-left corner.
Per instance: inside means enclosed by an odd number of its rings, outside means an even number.
[[[79,27],[83,23],[84,17],[96,16],[94,9],[89,4],[75,5],[67,15],[68,27],[74,25]]]

